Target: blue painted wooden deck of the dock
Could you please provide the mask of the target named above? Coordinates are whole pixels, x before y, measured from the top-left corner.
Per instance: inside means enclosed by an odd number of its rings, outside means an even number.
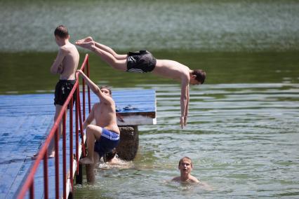
[[[154,90],[113,91],[112,95],[119,114],[125,121],[119,125],[155,123]],[[98,102],[98,97],[91,94],[91,102],[91,104]],[[136,109],[125,110],[124,108],[129,104]],[[34,161],[31,159],[32,155],[39,150],[39,146],[46,139],[53,125],[54,111],[53,94],[0,95],[0,198],[15,198],[18,188]],[[138,122],[135,122],[136,120]],[[62,139],[59,146],[62,146]],[[68,153],[69,151],[67,156]],[[54,159],[48,161],[49,188],[51,188],[49,198],[54,198]],[[68,158],[67,163],[69,163]],[[60,153],[60,164],[62,164],[62,153]],[[42,167],[40,167],[34,179],[35,198],[43,198],[43,180]],[[61,181],[60,175],[60,195],[62,195]]]

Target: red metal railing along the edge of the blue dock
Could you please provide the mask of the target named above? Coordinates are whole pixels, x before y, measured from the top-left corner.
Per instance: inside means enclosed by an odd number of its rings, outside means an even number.
[[[89,76],[89,63],[88,63],[88,54],[86,54],[84,58],[84,62],[81,65],[81,70],[84,71],[86,69],[86,74]],[[71,184],[71,192],[73,191],[73,95],[76,92],[77,100],[76,100],[76,111],[75,111],[75,133],[76,133],[76,163],[77,163],[77,174],[79,168],[79,125],[80,125],[80,134],[81,134],[81,146],[82,146],[82,155],[85,156],[85,147],[84,147],[84,133],[83,123],[82,123],[82,113],[81,113],[81,102],[80,102],[80,91],[79,91],[79,74],[76,74],[76,83],[74,84],[74,88],[69,93],[69,97],[67,97],[67,101],[63,104],[60,114],[58,118],[53,124],[51,131],[48,134],[46,141],[43,146],[39,150],[39,155],[36,157],[29,174],[27,175],[27,179],[23,184],[18,198],[25,198],[25,195],[29,191],[29,198],[34,198],[34,174],[36,174],[36,170],[39,165],[41,165],[41,160],[44,160],[44,198],[48,199],[48,146],[51,140],[55,137],[55,198],[60,197],[59,193],[59,126],[62,121],[62,177],[63,177],[63,198],[67,198],[67,134],[66,134],[66,113],[67,113],[67,105],[69,105],[69,182]],[[82,79],[83,85],[83,121],[85,121],[85,82]],[[91,111],[91,93],[88,88],[88,112]]]

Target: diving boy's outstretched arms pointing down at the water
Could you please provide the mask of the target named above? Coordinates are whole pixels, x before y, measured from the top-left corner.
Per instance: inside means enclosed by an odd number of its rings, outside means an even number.
[[[180,126],[184,128],[187,125],[187,115],[189,108],[189,81],[182,80],[182,88],[180,94]]]

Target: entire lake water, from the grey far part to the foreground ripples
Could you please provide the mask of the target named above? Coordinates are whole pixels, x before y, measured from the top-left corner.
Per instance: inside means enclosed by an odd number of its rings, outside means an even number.
[[[298,198],[298,1],[0,1],[0,94],[53,92],[53,29],[91,35],[118,52],[147,48],[204,69],[180,129],[180,85],[110,69],[91,54],[91,78],[114,90],[154,89],[157,125],[139,127],[129,167],[96,170],[75,198]],[[81,62],[86,51],[79,48]],[[54,107],[53,107],[54,109]],[[169,182],[189,156],[201,186]]]

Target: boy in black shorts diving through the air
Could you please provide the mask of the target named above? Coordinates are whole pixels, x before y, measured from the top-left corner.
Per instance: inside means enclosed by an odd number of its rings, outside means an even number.
[[[93,51],[114,69],[141,73],[152,71],[153,74],[180,81],[180,125],[181,128],[187,125],[190,101],[189,85],[203,84],[206,72],[200,69],[191,70],[189,67],[173,60],[157,60],[147,50],[140,50],[135,53],[129,52],[128,55],[119,55],[112,48],[93,41],[91,36],[76,41],[76,45]]]

